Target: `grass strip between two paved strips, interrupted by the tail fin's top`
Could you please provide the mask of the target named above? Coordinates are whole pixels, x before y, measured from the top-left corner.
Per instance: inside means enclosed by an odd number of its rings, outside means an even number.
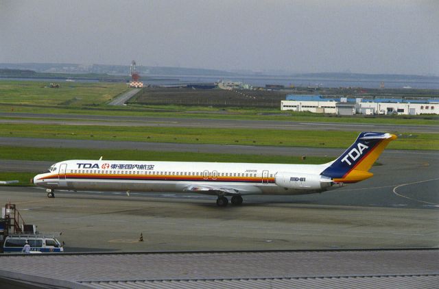
[[[0,124],[0,136],[347,148],[357,138],[358,132]],[[410,137],[403,134],[397,140],[391,142],[389,148],[437,150],[439,149],[439,134],[413,134]]]

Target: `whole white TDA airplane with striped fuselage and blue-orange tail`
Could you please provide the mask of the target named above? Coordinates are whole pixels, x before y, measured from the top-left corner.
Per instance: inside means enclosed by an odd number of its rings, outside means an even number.
[[[310,194],[372,177],[369,169],[394,134],[362,132],[337,160],[327,164],[139,162],[67,160],[36,175],[33,183],[54,190],[198,192],[217,195],[217,205],[241,205],[246,194]]]

